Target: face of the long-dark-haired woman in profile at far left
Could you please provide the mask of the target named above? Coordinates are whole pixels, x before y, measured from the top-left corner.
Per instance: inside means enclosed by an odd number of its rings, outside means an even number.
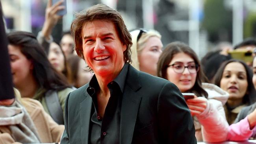
[[[24,81],[33,75],[33,64],[22,54],[19,46],[9,44],[8,51],[11,60],[13,84],[19,87],[19,85],[24,85]]]

